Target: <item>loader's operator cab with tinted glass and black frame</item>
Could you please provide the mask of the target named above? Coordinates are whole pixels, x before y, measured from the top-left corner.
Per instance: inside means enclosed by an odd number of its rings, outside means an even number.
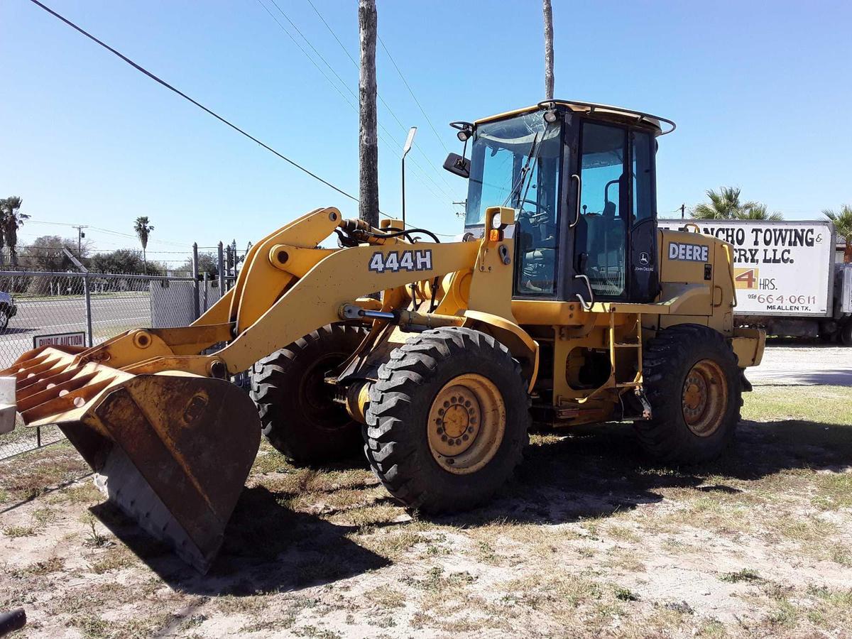
[[[469,179],[465,232],[481,237],[490,206],[517,211],[515,298],[653,301],[655,138],[674,123],[619,107],[546,101],[452,126],[464,152],[451,153],[444,166]]]

